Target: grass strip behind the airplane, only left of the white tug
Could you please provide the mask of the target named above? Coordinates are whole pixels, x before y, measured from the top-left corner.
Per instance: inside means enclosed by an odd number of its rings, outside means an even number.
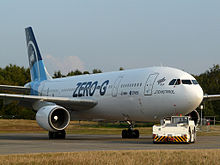
[[[99,124],[92,121],[71,121],[66,131],[69,134],[121,134],[121,130],[116,123],[116,127],[110,127],[109,124]],[[151,127],[137,127],[141,134],[151,134]],[[47,133],[41,128],[36,120],[22,119],[0,119],[0,133]]]

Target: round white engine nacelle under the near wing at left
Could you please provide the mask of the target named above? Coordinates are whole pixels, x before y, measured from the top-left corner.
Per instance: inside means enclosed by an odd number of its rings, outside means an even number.
[[[37,123],[47,131],[57,132],[65,129],[70,122],[69,112],[58,105],[43,106],[37,111]]]

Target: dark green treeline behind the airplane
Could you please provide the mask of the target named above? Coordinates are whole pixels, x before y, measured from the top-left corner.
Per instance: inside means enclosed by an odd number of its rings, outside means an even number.
[[[122,67],[119,70],[124,70]],[[75,70],[62,74],[61,71],[56,71],[53,74],[53,78],[76,76],[82,74],[95,74],[101,73],[100,69],[93,69],[92,72]],[[195,76],[195,75],[194,75]],[[214,65],[205,73],[196,75],[195,78],[206,94],[220,94],[220,66]],[[18,85],[31,81],[30,70],[24,67],[16,65],[8,65],[5,68],[0,68],[0,84]],[[220,120],[220,101],[204,102],[205,109],[203,115],[216,116],[217,120]],[[200,110],[199,110],[200,112]],[[35,119],[35,112],[31,109],[24,108],[17,105],[17,102],[10,104],[3,104],[3,100],[0,100],[0,118],[22,118],[22,119]]]

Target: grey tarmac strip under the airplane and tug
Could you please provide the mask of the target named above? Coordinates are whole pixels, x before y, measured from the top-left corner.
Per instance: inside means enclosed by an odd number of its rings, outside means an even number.
[[[193,144],[153,144],[151,136],[122,139],[120,135],[68,134],[65,140],[49,140],[47,134],[0,134],[0,154],[79,152],[100,150],[220,149],[220,136],[198,136]]]

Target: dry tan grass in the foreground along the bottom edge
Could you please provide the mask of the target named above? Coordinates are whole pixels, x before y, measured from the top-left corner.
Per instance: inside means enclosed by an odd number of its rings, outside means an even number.
[[[218,165],[220,164],[220,150],[86,151],[0,155],[0,164]]]

